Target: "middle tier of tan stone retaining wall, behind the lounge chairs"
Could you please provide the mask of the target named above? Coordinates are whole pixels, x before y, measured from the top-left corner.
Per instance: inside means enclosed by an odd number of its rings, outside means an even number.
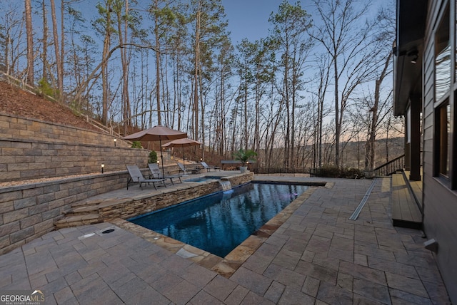
[[[149,150],[0,139],[0,182],[146,167]]]

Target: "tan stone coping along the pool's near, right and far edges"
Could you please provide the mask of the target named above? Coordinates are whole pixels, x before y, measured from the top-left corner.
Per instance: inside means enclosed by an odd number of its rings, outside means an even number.
[[[262,181],[255,180],[255,182],[284,183],[286,181],[266,179]],[[293,183],[293,181],[289,182]],[[308,182],[301,182],[301,185],[308,185]],[[111,224],[115,224],[118,227],[121,227],[122,229],[126,229],[143,239],[146,239],[146,241],[151,242],[152,244],[156,244],[159,247],[167,249],[170,252],[179,255],[180,257],[190,259],[192,262],[199,264],[201,267],[205,267],[206,269],[210,269],[214,272],[217,272],[218,274],[221,274],[221,276],[229,278],[234,272],[236,272],[239,267],[241,267],[241,264],[246,262],[251,254],[256,252],[256,249],[258,249],[258,247],[260,247],[261,244],[263,244],[263,242],[268,239],[268,237],[276,232],[276,229],[281,227],[281,225],[286,222],[289,217],[291,217],[293,212],[295,212],[298,207],[306,202],[306,200],[313,194],[317,187],[322,187],[323,185],[325,185],[326,188],[332,188],[335,183],[311,182],[308,190],[298,196],[296,200],[293,200],[290,205],[276,214],[276,216],[268,220],[266,224],[263,224],[260,229],[245,239],[241,244],[238,245],[238,247],[233,249],[224,258],[191,246],[190,244],[185,244],[179,240],[172,239],[171,237],[167,237],[166,235],[160,234],[151,229],[146,229],[132,222],[128,222],[125,219],[116,218],[111,219],[109,222]]]

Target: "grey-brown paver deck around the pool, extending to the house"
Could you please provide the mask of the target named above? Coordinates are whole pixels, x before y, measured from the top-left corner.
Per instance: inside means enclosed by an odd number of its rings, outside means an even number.
[[[41,289],[46,304],[450,304],[422,232],[391,224],[390,178],[354,221],[371,180],[325,180],[229,279],[102,223],[1,255],[0,290]]]

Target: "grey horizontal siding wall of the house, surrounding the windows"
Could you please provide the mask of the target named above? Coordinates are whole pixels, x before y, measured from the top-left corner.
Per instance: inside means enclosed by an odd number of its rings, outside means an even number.
[[[423,228],[428,239],[435,238],[438,241],[438,253],[436,259],[441,274],[446,283],[448,293],[453,303],[457,302],[457,192],[451,190],[446,180],[436,177],[433,172],[434,133],[433,124],[435,115],[435,31],[439,24],[439,14],[446,1],[429,1],[428,20],[423,54],[423,205],[424,219]],[[455,0],[450,1],[451,24],[456,19]],[[455,29],[451,28],[451,43],[455,36]],[[452,46],[452,44],[451,44]],[[453,44],[453,53],[455,53]],[[454,93],[457,85],[451,81],[449,103],[451,111],[455,112]],[[453,105],[454,104],[454,105]],[[453,123],[451,123],[453,124]],[[456,143],[453,144],[455,147]],[[452,145],[452,144],[451,144]],[[456,152],[453,151],[453,155]],[[451,158],[452,159],[452,158]],[[451,168],[457,164],[452,164]],[[451,177],[457,179],[457,177]]]

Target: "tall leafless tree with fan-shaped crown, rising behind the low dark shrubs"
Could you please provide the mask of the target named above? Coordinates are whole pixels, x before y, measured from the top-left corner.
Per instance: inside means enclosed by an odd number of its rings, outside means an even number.
[[[340,166],[340,141],[344,113],[355,89],[371,79],[372,54],[365,50],[373,23],[363,24],[369,4],[356,6],[355,0],[314,0],[322,24],[313,38],[331,56],[333,63],[335,110],[335,165]]]

